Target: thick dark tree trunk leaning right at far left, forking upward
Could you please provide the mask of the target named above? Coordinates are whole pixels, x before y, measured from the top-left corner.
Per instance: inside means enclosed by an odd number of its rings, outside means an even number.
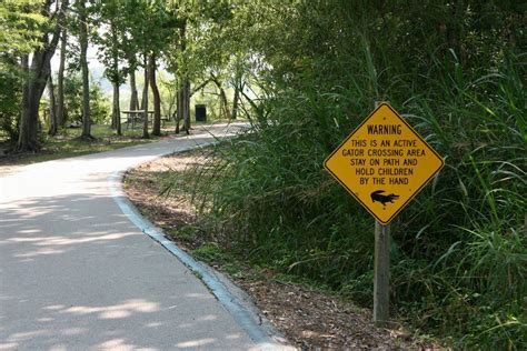
[[[42,16],[50,16],[50,2],[51,1],[46,2],[42,7]],[[48,33],[42,34],[40,39],[42,46],[34,50],[29,68],[28,57],[22,57],[22,68],[28,72],[27,77],[30,76],[30,78],[28,78],[28,81],[24,83],[22,92],[22,114],[20,117],[19,139],[17,143],[18,151],[38,151],[40,149],[37,133],[40,98],[42,97],[46,82],[51,72],[50,62],[59,42],[60,27],[63,23],[67,7],[68,1],[64,0],[58,14],[57,26],[52,31],[51,41],[49,41]]]

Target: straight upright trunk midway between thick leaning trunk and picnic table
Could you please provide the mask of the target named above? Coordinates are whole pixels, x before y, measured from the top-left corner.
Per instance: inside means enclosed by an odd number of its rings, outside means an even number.
[[[92,139],[90,121],[90,81],[88,70],[88,24],[86,16],[86,0],[77,0],[79,6],[79,43],[80,43],[80,67],[82,70],[82,139]]]

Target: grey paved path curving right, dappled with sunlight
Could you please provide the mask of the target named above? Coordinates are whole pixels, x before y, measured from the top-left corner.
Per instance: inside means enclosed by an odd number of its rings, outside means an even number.
[[[116,172],[213,140],[0,168],[0,350],[259,349],[109,189]]]

